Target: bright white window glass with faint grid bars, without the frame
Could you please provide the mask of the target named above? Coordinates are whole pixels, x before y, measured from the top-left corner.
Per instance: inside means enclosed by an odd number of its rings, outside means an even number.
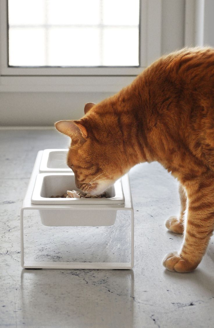
[[[10,66],[139,66],[139,0],[8,0]]]

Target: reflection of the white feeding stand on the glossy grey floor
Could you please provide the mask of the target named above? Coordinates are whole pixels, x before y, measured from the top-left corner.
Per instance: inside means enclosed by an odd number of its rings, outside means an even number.
[[[21,272],[17,322],[31,327],[133,327],[132,270]]]

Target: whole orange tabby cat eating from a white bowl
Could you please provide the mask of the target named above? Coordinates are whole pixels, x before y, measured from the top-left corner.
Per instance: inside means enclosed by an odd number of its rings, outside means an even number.
[[[86,104],[80,120],[55,126],[72,138],[67,162],[87,193],[100,194],[145,161],[178,178],[181,215],[166,227],[184,238],[163,265],[194,270],[214,229],[214,49],[163,56],[116,95]]]

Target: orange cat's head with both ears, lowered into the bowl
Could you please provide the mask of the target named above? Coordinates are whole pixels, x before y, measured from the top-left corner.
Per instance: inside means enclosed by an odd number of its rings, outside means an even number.
[[[101,194],[128,171],[116,119],[97,114],[97,106],[87,103],[80,120],[55,123],[59,132],[71,137],[67,164],[75,174],[76,187],[92,195]]]

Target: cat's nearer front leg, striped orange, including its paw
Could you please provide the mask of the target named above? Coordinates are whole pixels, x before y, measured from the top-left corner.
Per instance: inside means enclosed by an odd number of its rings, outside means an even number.
[[[189,272],[201,262],[214,228],[214,177],[189,185],[184,239],[180,252],[166,255],[170,271]]]

